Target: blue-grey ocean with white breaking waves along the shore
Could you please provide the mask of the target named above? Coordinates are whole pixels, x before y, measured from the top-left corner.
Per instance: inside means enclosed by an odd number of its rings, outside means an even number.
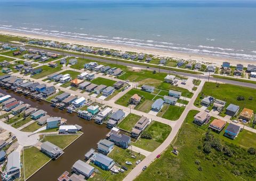
[[[256,60],[256,2],[1,1],[0,29]]]

